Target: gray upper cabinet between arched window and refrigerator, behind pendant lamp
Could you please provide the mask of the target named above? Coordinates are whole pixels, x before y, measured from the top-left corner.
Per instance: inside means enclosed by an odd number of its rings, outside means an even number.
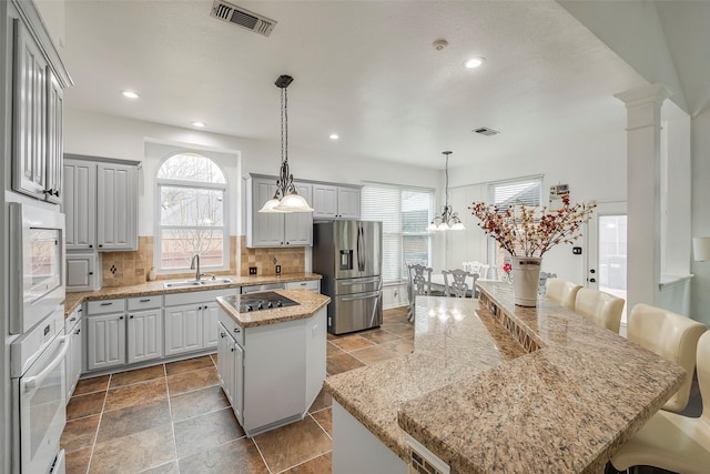
[[[261,213],[258,210],[276,191],[276,178],[247,174],[246,246],[310,246],[313,244],[312,213]],[[294,183],[298,194],[311,202],[311,184]]]

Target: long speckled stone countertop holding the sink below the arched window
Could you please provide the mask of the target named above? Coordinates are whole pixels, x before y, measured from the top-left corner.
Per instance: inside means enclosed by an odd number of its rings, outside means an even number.
[[[288,273],[280,276],[236,276],[236,275],[219,275],[217,279],[231,279],[231,283],[211,284],[205,286],[189,286],[166,289],[163,283],[171,280],[159,280],[133,286],[113,286],[102,288],[97,291],[84,291],[79,293],[67,293],[64,299],[64,314],[69,315],[84,301],[91,300],[110,300],[112,297],[133,297],[150,296],[154,294],[185,293],[192,291],[223,290],[229,288],[242,288],[266,283],[287,283],[300,282],[306,280],[321,280],[321,275],[315,273]],[[187,279],[182,279],[187,280]]]

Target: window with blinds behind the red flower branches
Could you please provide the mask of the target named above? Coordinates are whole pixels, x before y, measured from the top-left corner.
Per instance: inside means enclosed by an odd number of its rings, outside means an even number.
[[[542,177],[488,183],[488,202],[497,205],[501,211],[509,205],[541,205]],[[499,248],[495,239],[488,238],[488,264],[491,268],[500,269],[509,256]]]

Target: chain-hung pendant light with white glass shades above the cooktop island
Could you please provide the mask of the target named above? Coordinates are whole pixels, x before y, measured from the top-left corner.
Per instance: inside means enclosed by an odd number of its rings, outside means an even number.
[[[281,89],[281,170],[276,179],[276,192],[258,212],[313,212],[308,202],[298,195],[288,171],[288,94],[286,88],[293,82],[291,75],[280,75],[276,87]]]

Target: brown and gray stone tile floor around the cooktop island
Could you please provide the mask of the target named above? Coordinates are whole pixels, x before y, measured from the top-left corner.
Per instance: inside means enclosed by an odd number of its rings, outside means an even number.
[[[334,375],[414,349],[406,307],[379,329],[328,334]],[[67,473],[331,472],[331,397],[321,393],[297,423],[247,438],[220,387],[216,355],[87,379],[67,406]]]

